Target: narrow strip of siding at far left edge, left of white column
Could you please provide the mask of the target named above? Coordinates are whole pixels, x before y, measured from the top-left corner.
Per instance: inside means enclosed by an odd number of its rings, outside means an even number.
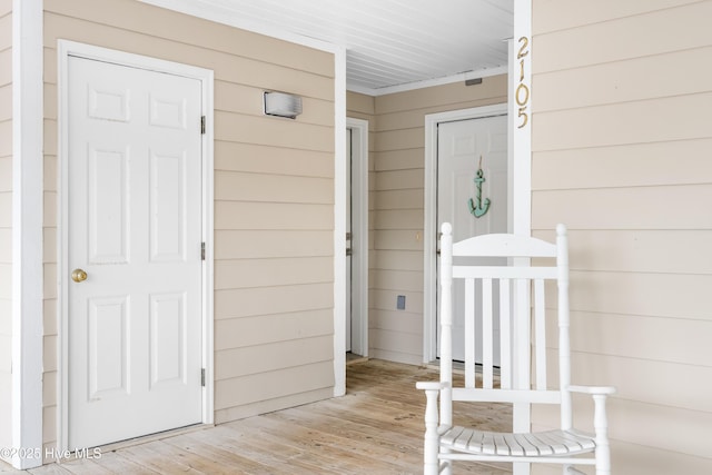
[[[0,447],[12,447],[12,1],[0,1]]]

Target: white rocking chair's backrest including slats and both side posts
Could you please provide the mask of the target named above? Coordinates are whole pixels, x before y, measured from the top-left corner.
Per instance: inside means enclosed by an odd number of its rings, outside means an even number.
[[[556,244],[515,235],[483,235],[453,244],[452,226],[444,224],[441,240],[441,380],[452,385],[453,279],[464,281],[465,384],[444,390],[441,420],[452,423],[452,400],[561,404],[562,429],[571,428],[568,349],[568,258],[566,228],[556,228]],[[510,265],[472,264],[473,257],[504,257]],[[534,258],[535,261],[531,263]],[[469,260],[469,263],[467,263]],[[552,263],[538,265],[542,260]],[[546,285],[554,283],[555,286]],[[546,291],[556,289],[558,380],[546,375]],[[548,306],[551,311],[551,305]],[[475,318],[482,316],[482,331]],[[500,354],[495,355],[495,320]],[[532,344],[534,365],[532,366]],[[482,382],[476,379],[475,355],[482,348]],[[500,359],[500,387],[495,359]],[[532,376],[530,376],[530,374]],[[451,386],[452,387],[452,386]],[[554,389],[550,389],[554,387]],[[448,400],[451,399],[451,400]]]

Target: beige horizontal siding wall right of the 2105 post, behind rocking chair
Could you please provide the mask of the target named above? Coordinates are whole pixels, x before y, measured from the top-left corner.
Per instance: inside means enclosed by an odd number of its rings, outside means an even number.
[[[533,6],[532,226],[571,229],[573,382],[617,386],[614,473],[712,473],[712,1]]]

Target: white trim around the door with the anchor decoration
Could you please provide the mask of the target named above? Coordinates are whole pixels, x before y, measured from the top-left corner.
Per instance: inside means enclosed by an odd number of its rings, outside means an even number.
[[[437,345],[435,342],[437,331],[435,328],[437,318],[437,285],[436,279],[436,250],[437,250],[437,126],[442,122],[455,120],[479,119],[507,113],[507,103],[494,106],[474,107],[469,109],[451,110],[446,112],[429,113],[425,116],[425,222],[423,224],[423,363],[435,360]],[[507,167],[510,176],[513,175],[512,154],[507,151]],[[510,189],[510,202],[514,202]],[[516,206],[521,204],[517,201]],[[513,205],[514,206],[514,205]],[[515,206],[515,208],[516,208]],[[512,216],[510,214],[510,216]],[[512,229],[512,224],[507,225]]]

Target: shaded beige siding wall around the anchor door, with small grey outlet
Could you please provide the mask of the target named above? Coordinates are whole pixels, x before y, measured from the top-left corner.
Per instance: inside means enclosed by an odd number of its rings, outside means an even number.
[[[506,76],[375,98],[369,354],[423,363],[425,116],[506,102]],[[406,298],[396,309],[397,296]]]

